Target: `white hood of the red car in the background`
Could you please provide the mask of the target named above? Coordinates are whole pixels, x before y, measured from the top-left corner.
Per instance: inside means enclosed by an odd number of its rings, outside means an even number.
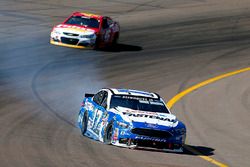
[[[59,24],[54,27],[53,30],[56,30],[60,33],[75,33],[81,35],[91,35],[96,32],[95,29],[85,28],[81,26],[68,25],[68,24]]]

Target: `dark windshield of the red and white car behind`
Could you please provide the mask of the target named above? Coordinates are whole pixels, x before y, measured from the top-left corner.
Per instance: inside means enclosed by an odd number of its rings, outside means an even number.
[[[99,27],[99,21],[97,19],[84,16],[72,16],[65,22],[65,24],[80,25],[90,28]]]

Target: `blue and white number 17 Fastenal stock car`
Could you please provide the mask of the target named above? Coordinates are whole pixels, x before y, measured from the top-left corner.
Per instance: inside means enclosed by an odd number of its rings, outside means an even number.
[[[156,93],[103,88],[85,94],[78,115],[82,135],[127,148],[182,152],[186,127]]]

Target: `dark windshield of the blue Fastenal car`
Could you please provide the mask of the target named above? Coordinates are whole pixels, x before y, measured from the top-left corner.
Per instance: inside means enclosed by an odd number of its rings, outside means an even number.
[[[165,104],[159,99],[137,96],[114,95],[111,98],[110,108],[126,107],[132,110],[169,113]]]

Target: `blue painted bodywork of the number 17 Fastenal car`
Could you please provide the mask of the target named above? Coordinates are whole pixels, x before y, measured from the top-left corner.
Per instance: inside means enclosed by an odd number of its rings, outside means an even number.
[[[126,89],[118,89],[119,92],[126,92]],[[150,95],[147,92],[134,91],[135,93],[141,93],[145,95]],[[80,108],[78,116],[78,125],[79,128],[82,128],[82,120],[86,114],[88,124],[87,130],[84,135],[103,142],[105,137],[106,128],[109,124],[112,124],[112,144],[119,142],[120,139],[134,139],[134,140],[147,140],[147,141],[156,141],[164,143],[172,143],[183,145],[186,137],[186,127],[179,120],[175,120],[173,123],[176,123],[176,126],[164,126],[158,124],[149,124],[146,122],[126,122],[122,118],[122,112],[116,111],[115,109],[106,110],[104,107],[98,105],[93,101],[93,97],[86,97],[83,99],[83,104]],[[164,114],[159,114],[164,115]],[[131,132],[134,128],[150,129],[156,131],[164,131],[171,134],[171,137],[150,137],[143,136],[138,134],[133,134]],[[117,134],[115,134],[117,133]],[[114,135],[117,135],[114,137]]]

